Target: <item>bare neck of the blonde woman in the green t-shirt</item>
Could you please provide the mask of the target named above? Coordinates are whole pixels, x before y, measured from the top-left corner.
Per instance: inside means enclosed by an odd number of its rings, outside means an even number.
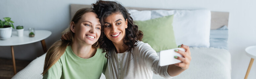
[[[96,49],[92,48],[92,45],[88,45],[84,42],[73,41],[71,45],[72,51],[80,58],[88,59],[95,55]]]

